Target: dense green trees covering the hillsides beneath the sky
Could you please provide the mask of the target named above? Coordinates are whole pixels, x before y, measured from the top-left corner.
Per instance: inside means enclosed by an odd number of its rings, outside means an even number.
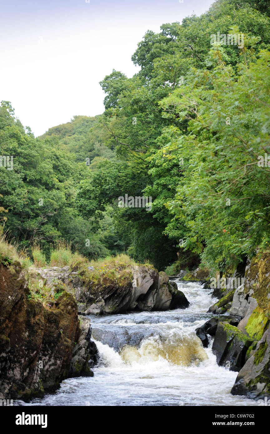
[[[89,258],[126,251],[164,269],[233,267],[270,243],[270,19],[267,1],[217,0],[207,13],[148,31],[132,60],[100,83],[105,112],[34,138],[0,109],[0,205],[30,251],[63,239]],[[211,34],[244,34],[244,46]],[[151,210],[119,207],[152,198]],[[43,200],[40,205],[40,199]],[[6,213],[4,210],[8,210]],[[1,211],[1,208],[0,208]],[[3,218],[3,217],[2,217]],[[179,240],[180,246],[179,246]]]

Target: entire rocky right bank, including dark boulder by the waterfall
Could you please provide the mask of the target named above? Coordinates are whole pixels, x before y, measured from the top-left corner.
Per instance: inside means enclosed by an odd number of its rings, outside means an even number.
[[[221,366],[239,372],[231,390],[249,398],[270,397],[270,255],[248,261],[244,283],[208,312],[215,316],[197,329],[204,346],[214,336],[212,350]]]

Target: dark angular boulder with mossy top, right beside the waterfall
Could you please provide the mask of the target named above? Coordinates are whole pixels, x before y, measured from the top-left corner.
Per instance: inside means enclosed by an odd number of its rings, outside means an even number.
[[[219,366],[229,367],[232,371],[240,371],[244,366],[248,348],[254,342],[229,322],[219,322],[212,346]]]

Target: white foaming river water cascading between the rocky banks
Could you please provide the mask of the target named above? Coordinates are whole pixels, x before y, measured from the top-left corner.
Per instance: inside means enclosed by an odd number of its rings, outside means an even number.
[[[188,309],[89,316],[100,361],[93,378],[69,378],[53,395],[19,405],[256,405],[230,395],[237,372],[217,365],[194,330],[216,300],[176,280]],[[211,342],[212,343],[212,342]]]

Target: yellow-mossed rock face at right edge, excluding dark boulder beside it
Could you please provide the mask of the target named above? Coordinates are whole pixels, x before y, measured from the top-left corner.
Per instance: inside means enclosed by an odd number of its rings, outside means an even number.
[[[260,398],[270,395],[270,256],[263,253],[246,268],[244,286],[236,292],[231,312],[242,320],[238,327],[254,338],[249,358],[237,375],[233,395]]]

